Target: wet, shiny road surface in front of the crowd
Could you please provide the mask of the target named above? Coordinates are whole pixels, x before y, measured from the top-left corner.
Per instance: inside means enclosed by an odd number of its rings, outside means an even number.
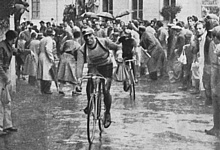
[[[212,108],[204,99],[178,91],[179,83],[159,79],[136,85],[136,100],[129,99],[122,83],[113,82],[113,123],[89,145],[86,133],[86,93],[41,95],[27,81],[18,81],[13,94],[14,125],[19,129],[0,137],[0,150],[219,150],[212,128]],[[85,85],[85,83],[84,83]],[[85,87],[85,86],[84,86]]]

